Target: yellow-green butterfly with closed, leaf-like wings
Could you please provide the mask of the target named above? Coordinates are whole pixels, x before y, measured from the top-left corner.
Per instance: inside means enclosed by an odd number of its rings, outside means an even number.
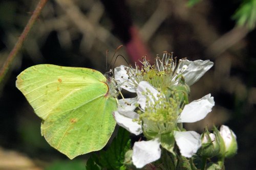
[[[90,68],[35,65],[16,87],[42,119],[41,135],[70,159],[102,149],[115,129],[113,78]]]

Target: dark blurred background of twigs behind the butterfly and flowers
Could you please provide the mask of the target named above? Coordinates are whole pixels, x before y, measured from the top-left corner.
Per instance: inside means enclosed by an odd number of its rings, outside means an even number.
[[[0,66],[37,3],[0,1]],[[249,7],[239,13],[246,3]],[[186,128],[201,133],[205,126],[229,126],[239,149],[226,159],[226,169],[255,169],[255,4],[255,0],[49,0],[1,83],[0,169],[84,169],[87,155],[70,161],[41,137],[41,120],[15,88],[16,76],[41,63],[105,72],[106,50],[110,62],[121,44],[118,54],[132,65],[142,55],[153,60],[163,51],[213,61],[214,67],[191,86],[190,101],[211,93],[215,107]],[[120,64],[127,65],[122,57],[114,67]]]

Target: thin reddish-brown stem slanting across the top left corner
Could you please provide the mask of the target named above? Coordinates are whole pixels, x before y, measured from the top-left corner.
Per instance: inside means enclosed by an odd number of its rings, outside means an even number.
[[[16,54],[19,52],[20,48],[22,47],[25,38],[28,36],[32,26],[34,25],[36,19],[41,13],[41,10],[45,7],[48,0],[40,0],[37,4],[32,16],[30,17],[26,27],[24,28],[22,34],[19,36],[18,41],[16,42],[15,46],[13,47],[11,53],[7,57],[2,69],[0,70],[0,83],[3,81],[5,75],[7,74],[13,59],[16,57]]]

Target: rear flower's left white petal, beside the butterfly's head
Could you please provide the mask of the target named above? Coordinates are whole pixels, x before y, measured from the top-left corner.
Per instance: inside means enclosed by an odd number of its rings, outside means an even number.
[[[134,82],[127,75],[127,70],[129,69],[132,69],[132,68],[126,67],[124,65],[121,65],[120,67],[116,67],[114,69],[115,80],[117,82],[117,85],[120,88],[123,88],[130,92],[136,92],[136,87]],[[120,88],[119,90],[121,90]]]

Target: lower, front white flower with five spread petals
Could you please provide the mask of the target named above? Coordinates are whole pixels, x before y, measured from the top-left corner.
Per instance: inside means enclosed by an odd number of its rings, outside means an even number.
[[[118,110],[114,112],[118,125],[135,135],[143,132],[147,138],[152,139],[143,141],[143,144],[148,142],[151,147],[142,148],[142,144],[139,144],[142,141],[136,142],[134,148],[136,152],[133,153],[134,165],[139,168],[159,159],[161,154],[154,154],[160,150],[161,141],[157,138],[166,133],[173,134],[181,155],[188,158],[193,156],[201,147],[200,135],[194,131],[181,132],[176,125],[177,123],[193,123],[203,119],[215,104],[213,97],[207,94],[202,99],[185,105],[181,111],[180,103],[175,100],[166,102],[165,96],[148,82],[141,81],[136,91],[142,114],[139,115],[134,111]]]

